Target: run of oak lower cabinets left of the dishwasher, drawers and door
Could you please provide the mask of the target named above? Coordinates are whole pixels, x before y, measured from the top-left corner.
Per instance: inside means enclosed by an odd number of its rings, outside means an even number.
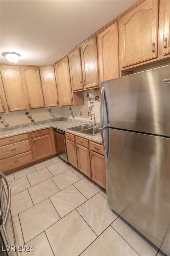
[[[56,155],[52,128],[1,139],[1,172],[22,169]]]

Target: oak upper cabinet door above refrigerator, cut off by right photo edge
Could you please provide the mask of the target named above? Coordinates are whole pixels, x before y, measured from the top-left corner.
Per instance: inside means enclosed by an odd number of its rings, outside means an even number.
[[[170,56],[170,1],[159,1],[159,57]]]

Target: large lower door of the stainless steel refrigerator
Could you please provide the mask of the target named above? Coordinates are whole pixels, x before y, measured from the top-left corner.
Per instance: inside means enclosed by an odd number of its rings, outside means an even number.
[[[170,222],[170,139],[110,129],[110,144],[108,205],[160,247]]]

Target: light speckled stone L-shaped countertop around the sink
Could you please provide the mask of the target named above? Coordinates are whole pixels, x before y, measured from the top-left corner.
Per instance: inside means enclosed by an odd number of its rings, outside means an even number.
[[[97,135],[88,135],[82,132],[76,132],[76,131],[70,131],[67,128],[80,125],[80,124],[91,124],[90,122],[87,121],[80,121],[80,120],[74,120],[74,119],[66,119],[61,120],[62,118],[58,118],[57,120],[46,120],[46,121],[40,121],[40,122],[35,122],[35,123],[30,123],[30,124],[25,124],[25,125],[18,125],[18,126],[12,126],[12,127],[6,127],[6,128],[1,128],[0,130],[0,138],[7,138],[10,136],[15,136],[15,135],[20,135],[23,133],[28,133],[28,132],[34,132],[46,128],[57,128],[60,130],[63,130],[65,132],[69,132],[71,134],[83,137],[85,139],[92,140],[94,142],[102,143],[102,136],[101,134]],[[64,118],[63,118],[64,119]]]

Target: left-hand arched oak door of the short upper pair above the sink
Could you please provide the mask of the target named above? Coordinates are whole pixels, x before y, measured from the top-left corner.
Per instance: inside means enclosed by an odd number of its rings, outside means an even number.
[[[82,90],[83,78],[82,78],[82,67],[81,67],[81,57],[80,48],[74,50],[68,55],[69,67],[70,67],[70,78],[72,90]]]

